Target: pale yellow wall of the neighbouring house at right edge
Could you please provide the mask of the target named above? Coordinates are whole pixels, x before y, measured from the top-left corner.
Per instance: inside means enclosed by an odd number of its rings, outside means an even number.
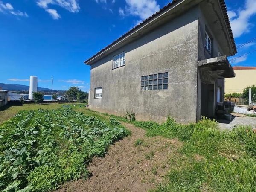
[[[244,88],[256,85],[256,67],[235,66],[235,78],[225,79],[225,93],[243,93]]]

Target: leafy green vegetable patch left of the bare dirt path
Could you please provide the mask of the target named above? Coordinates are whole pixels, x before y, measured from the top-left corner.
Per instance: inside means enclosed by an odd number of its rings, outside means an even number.
[[[129,132],[72,109],[21,111],[0,125],[0,191],[48,191],[81,177]]]

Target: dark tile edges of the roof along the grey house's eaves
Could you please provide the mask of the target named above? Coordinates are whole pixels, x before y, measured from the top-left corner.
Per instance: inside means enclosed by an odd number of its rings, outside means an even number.
[[[141,22],[140,24],[138,24],[137,26],[135,26],[133,29],[131,29],[130,31],[126,32],[124,35],[122,35],[121,37],[119,37],[118,39],[116,39],[116,41],[113,41],[111,44],[109,44],[107,47],[103,48],[102,50],[100,50],[99,52],[97,52],[95,55],[93,55],[92,57],[88,58],[86,61],[84,61],[84,63],[87,63],[88,61],[90,61],[91,59],[93,59],[94,57],[96,57],[97,55],[101,54],[102,52],[104,52],[106,49],[108,49],[109,47],[111,47],[112,45],[116,44],[118,41],[121,41],[123,38],[127,37],[128,35],[130,35],[132,32],[134,32],[136,29],[138,29],[140,26],[143,26],[145,23],[148,23],[149,21],[153,20],[155,17],[157,17],[158,15],[160,15],[162,12],[164,12],[166,9],[168,9],[169,7],[175,5],[175,3],[177,3],[179,0],[172,0],[172,3],[168,3],[167,6],[164,6],[162,9],[160,9],[158,12],[156,12],[155,14],[151,15],[150,17],[148,17],[147,19],[145,19],[143,22]],[[232,41],[233,47],[235,49],[236,52],[236,43],[233,37],[233,32],[230,26],[230,21],[229,21],[229,17],[227,15],[227,6],[225,3],[225,0],[219,0],[220,5],[221,5],[221,9],[224,15],[224,19],[227,25],[227,29],[230,35],[230,39]]]

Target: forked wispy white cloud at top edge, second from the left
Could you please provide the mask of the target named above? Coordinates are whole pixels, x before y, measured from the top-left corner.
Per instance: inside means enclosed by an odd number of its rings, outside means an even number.
[[[37,0],[37,5],[45,9],[55,20],[61,18],[61,15],[58,14],[56,9],[49,9],[49,5],[61,6],[72,13],[79,12],[80,9],[77,0]]]

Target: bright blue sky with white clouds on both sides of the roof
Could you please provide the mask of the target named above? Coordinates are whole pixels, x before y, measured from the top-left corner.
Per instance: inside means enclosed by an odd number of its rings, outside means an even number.
[[[171,0],[0,0],[0,82],[88,91],[87,58]],[[236,44],[256,37],[256,0],[226,0]],[[233,58],[256,49],[256,41]],[[231,61],[255,66],[256,52]],[[232,58],[230,58],[232,59]]]

